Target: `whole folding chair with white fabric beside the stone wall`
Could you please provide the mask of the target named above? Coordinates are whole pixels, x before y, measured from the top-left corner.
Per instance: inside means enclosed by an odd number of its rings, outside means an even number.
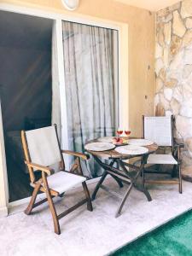
[[[145,179],[146,173],[168,173],[159,172],[158,170],[143,171],[143,185],[144,183],[172,183],[178,184],[179,193],[182,193],[182,171],[181,171],[181,154],[180,150],[183,148],[183,143],[177,143],[173,138],[173,116],[161,117],[146,117],[143,116],[143,138],[157,143],[159,148],[172,148],[172,154],[150,154],[146,164],[149,165],[172,165],[172,177],[177,174],[177,179],[164,180],[148,180]],[[159,168],[160,169],[160,168]]]

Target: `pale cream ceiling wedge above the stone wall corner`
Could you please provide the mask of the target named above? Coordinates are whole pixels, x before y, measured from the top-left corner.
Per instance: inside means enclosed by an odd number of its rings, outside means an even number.
[[[115,2],[125,3],[131,6],[136,6],[150,11],[158,11],[178,3],[179,0],[114,0]]]

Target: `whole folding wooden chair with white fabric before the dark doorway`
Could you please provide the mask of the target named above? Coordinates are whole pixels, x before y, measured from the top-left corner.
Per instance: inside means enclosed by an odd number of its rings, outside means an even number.
[[[21,139],[26,158],[25,163],[28,167],[31,179],[30,184],[34,188],[31,201],[26,208],[25,213],[27,215],[30,214],[34,207],[38,207],[45,201],[48,201],[54,222],[55,233],[60,235],[60,218],[73,212],[73,210],[82,206],[84,203],[87,203],[87,209],[92,211],[90,193],[85,183],[86,177],[83,176],[80,165],[80,159],[88,160],[89,155],[61,150],[56,125],[32,131],[21,131]],[[65,163],[62,153],[70,154],[75,157],[70,172],[65,171]],[[42,175],[41,178],[36,180],[34,172],[38,171],[41,172]],[[79,201],[75,206],[57,215],[53,197],[64,195],[67,190],[72,189],[79,183],[82,183],[84,189],[84,200]],[[46,198],[35,203],[39,190],[45,192]]]

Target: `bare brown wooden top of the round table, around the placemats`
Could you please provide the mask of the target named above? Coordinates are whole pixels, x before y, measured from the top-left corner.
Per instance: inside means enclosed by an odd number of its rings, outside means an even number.
[[[91,140],[87,142],[86,144],[89,143],[99,143],[98,139]],[[119,146],[117,146],[119,147]],[[115,148],[111,150],[106,150],[106,151],[92,151],[92,150],[86,150],[86,152],[95,155],[97,157],[102,157],[102,158],[123,158],[123,159],[129,159],[133,157],[138,157],[138,156],[143,156],[146,154],[153,154],[157,149],[158,145],[156,143],[149,145],[149,146],[143,146],[144,148],[148,148],[148,152],[145,154],[120,154],[119,152],[115,151]]]

